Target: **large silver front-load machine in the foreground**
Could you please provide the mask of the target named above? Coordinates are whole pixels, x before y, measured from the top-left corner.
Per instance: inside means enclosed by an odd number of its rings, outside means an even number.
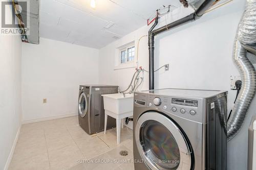
[[[226,91],[135,92],[135,170],[226,170],[226,113]]]

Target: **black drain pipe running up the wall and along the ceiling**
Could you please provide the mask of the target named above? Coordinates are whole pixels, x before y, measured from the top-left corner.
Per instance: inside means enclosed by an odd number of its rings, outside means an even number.
[[[177,26],[181,26],[183,24],[185,24],[186,22],[188,21],[193,21],[193,20],[196,20],[196,19],[199,19],[206,10],[208,10],[210,8],[210,6],[212,6],[212,4],[214,4],[216,2],[216,0],[205,0],[202,5],[192,14],[190,15],[187,15],[179,20],[176,20],[172,23],[169,23],[168,25],[166,26],[163,26],[163,27],[160,27],[158,29],[155,29],[154,28],[157,26],[158,24],[158,17],[155,19],[155,22],[154,22],[154,25],[150,28],[150,30],[148,31],[148,50],[149,50],[149,59],[150,59],[150,62],[149,62],[149,76],[150,76],[150,84],[149,84],[149,88],[150,90],[153,90],[155,87],[154,85],[154,62],[155,62],[155,46],[154,46],[154,39],[155,39],[155,36],[157,34],[160,34],[164,31],[167,31],[169,29],[172,29],[172,28],[175,28]]]

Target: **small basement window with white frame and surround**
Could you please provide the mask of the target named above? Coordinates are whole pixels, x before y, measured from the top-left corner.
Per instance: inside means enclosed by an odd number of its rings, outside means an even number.
[[[115,69],[135,67],[135,42],[116,48]]]

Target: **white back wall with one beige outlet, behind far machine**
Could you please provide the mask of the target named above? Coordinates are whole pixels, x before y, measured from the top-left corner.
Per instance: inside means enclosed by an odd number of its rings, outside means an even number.
[[[79,85],[98,83],[98,50],[44,38],[22,48],[23,120],[77,114]]]

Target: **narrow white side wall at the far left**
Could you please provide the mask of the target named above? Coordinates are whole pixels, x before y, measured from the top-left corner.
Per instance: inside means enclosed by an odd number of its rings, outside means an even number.
[[[0,35],[0,169],[8,167],[21,125],[20,36]]]

